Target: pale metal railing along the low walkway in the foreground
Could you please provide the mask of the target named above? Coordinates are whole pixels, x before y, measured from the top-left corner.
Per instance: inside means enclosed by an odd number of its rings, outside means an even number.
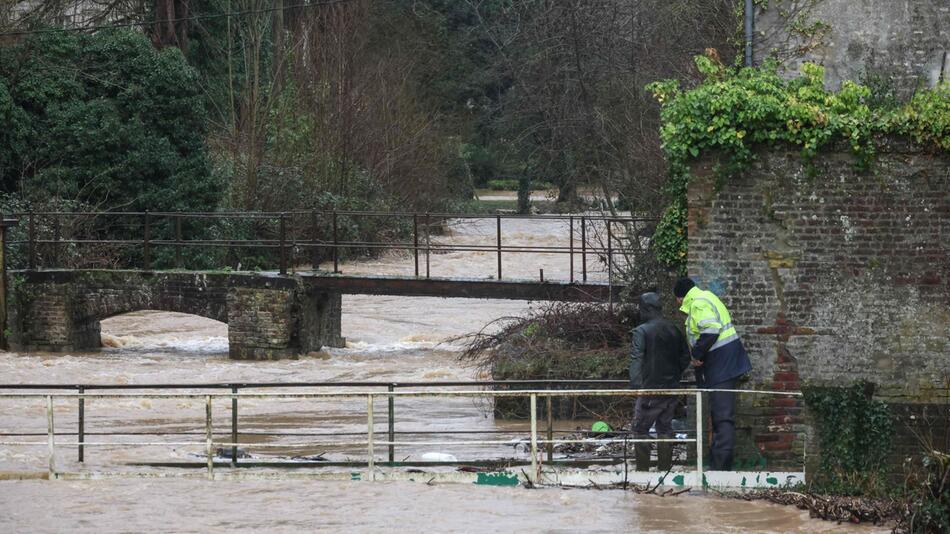
[[[431,385],[431,384],[425,384]],[[135,386],[131,386],[135,388]],[[190,387],[194,387],[193,385]],[[141,386],[138,386],[141,389]],[[551,462],[551,447],[557,444],[569,444],[569,443],[624,443],[626,448],[627,444],[633,443],[692,443],[696,447],[696,467],[695,467],[695,480],[703,480],[703,454],[701,451],[703,444],[703,419],[704,417],[698,415],[696,417],[696,426],[695,434],[692,438],[643,438],[634,436],[629,438],[624,436],[622,439],[615,437],[608,438],[592,438],[592,439],[555,439],[552,435],[550,424],[548,426],[548,435],[546,439],[539,438],[539,425],[538,425],[538,406],[537,402],[539,398],[544,398],[547,400],[547,412],[548,418],[550,421],[551,417],[551,402],[550,400],[553,397],[579,397],[579,396],[596,396],[596,397],[614,397],[614,398],[627,398],[627,397],[638,397],[638,396],[692,396],[694,398],[694,406],[697,414],[703,413],[703,394],[714,392],[714,391],[725,391],[725,392],[735,392],[737,394],[754,394],[754,395],[779,395],[779,396],[791,396],[799,397],[801,393],[799,392],[788,392],[788,391],[759,391],[759,390],[713,390],[713,389],[673,389],[673,390],[629,390],[629,389],[569,389],[569,390],[554,390],[554,389],[529,389],[529,390],[518,390],[518,391],[486,391],[486,390],[464,390],[464,391],[451,391],[451,390],[439,390],[439,391],[422,391],[422,390],[410,390],[410,391],[393,391],[392,389],[385,392],[376,392],[376,391],[354,391],[354,392],[322,392],[322,393],[236,393],[232,391],[231,393],[137,393],[137,394],[115,394],[115,393],[98,393],[98,394],[89,394],[89,393],[62,393],[62,394],[43,394],[43,393],[20,393],[20,394],[0,394],[0,399],[37,399],[45,400],[46,404],[46,419],[47,419],[47,432],[46,441],[0,441],[0,446],[45,446],[47,447],[48,455],[48,476],[50,479],[57,478],[57,468],[56,468],[56,447],[77,447],[82,448],[86,446],[203,446],[206,457],[206,469],[207,477],[209,479],[214,479],[214,469],[215,469],[215,448],[220,447],[231,447],[233,452],[236,452],[236,448],[239,445],[243,446],[253,446],[256,448],[288,448],[288,447],[339,447],[339,446],[356,446],[356,447],[365,447],[366,449],[366,461],[363,465],[366,467],[366,474],[369,480],[375,480],[376,478],[376,447],[377,446],[387,446],[390,448],[389,464],[393,465],[392,458],[392,449],[395,446],[454,446],[454,445],[510,445],[510,440],[452,440],[452,441],[397,441],[394,437],[394,432],[392,429],[393,422],[393,401],[396,398],[407,398],[407,397],[470,397],[470,398],[499,398],[499,397],[527,397],[529,400],[530,407],[530,445],[529,445],[529,456],[530,456],[530,465],[531,472],[528,475],[529,480],[532,482],[537,482],[541,475],[541,447],[542,445],[547,446],[548,450],[548,462]],[[365,398],[366,400],[366,432],[365,440],[356,440],[356,441],[333,441],[333,442],[319,442],[319,441],[306,441],[306,442],[295,442],[295,443],[238,443],[237,435],[232,433],[230,441],[215,441],[214,439],[214,424],[213,424],[213,401],[216,399],[231,400],[232,403],[236,403],[238,399],[241,398],[255,398],[255,399],[336,399],[336,398]],[[389,435],[385,440],[380,440],[376,437],[375,431],[375,413],[374,413],[374,401],[377,398],[385,398],[388,400],[389,406]],[[204,400],[205,404],[205,428],[204,428],[204,441],[182,441],[182,442],[169,442],[169,441],[138,441],[138,442],[128,442],[128,441],[96,441],[89,442],[85,441],[83,436],[79,436],[75,442],[66,442],[66,443],[57,443],[56,441],[56,430],[55,430],[55,421],[54,421],[54,411],[53,403],[55,399],[78,399],[82,403],[85,399],[192,399],[192,400]],[[233,417],[236,419],[237,413],[232,412]],[[233,427],[232,427],[233,428]],[[62,433],[61,433],[62,434]],[[234,467],[237,461],[237,455],[232,454],[231,457],[231,466]],[[624,460],[626,463],[626,459]]]

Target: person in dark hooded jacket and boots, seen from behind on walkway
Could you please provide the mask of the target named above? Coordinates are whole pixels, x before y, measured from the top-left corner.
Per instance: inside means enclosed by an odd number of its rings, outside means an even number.
[[[631,389],[677,389],[680,376],[689,366],[689,347],[686,337],[676,326],[663,318],[660,296],[644,293],[640,296],[642,324],[633,330],[630,350]],[[677,395],[650,395],[637,397],[634,411],[635,438],[648,438],[650,427],[656,424],[660,439],[673,437],[673,412],[679,402]],[[637,469],[647,471],[650,465],[650,444],[634,445]],[[657,469],[669,471],[673,466],[673,444],[657,444]]]

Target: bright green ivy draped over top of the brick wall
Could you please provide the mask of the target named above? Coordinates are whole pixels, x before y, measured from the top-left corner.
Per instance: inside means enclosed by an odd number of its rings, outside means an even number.
[[[653,236],[654,253],[667,265],[685,269],[689,163],[700,154],[717,154],[719,174],[728,177],[747,168],[760,147],[796,146],[808,162],[823,148],[845,143],[865,168],[885,135],[950,152],[948,83],[904,105],[871,107],[871,89],[845,81],[829,91],[824,69],[811,63],[793,79],[782,78],[774,63],[734,69],[698,56],[696,65],[705,80],[693,89],[681,89],[676,80],[647,86],[661,105],[660,138],[670,168],[671,202]]]

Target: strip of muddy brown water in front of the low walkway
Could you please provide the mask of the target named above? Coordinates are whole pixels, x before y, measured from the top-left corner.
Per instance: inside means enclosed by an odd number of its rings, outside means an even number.
[[[6,532],[874,532],[761,502],[414,482],[0,484]]]

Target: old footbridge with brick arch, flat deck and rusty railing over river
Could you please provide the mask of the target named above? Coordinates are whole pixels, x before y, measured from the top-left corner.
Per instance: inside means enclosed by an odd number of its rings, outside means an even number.
[[[342,345],[347,294],[612,303],[623,290],[616,272],[629,261],[621,251],[650,224],[597,215],[20,213],[3,218],[0,236],[2,341],[14,350],[93,349],[101,320],[148,309],[227,323],[232,358],[277,359]]]

